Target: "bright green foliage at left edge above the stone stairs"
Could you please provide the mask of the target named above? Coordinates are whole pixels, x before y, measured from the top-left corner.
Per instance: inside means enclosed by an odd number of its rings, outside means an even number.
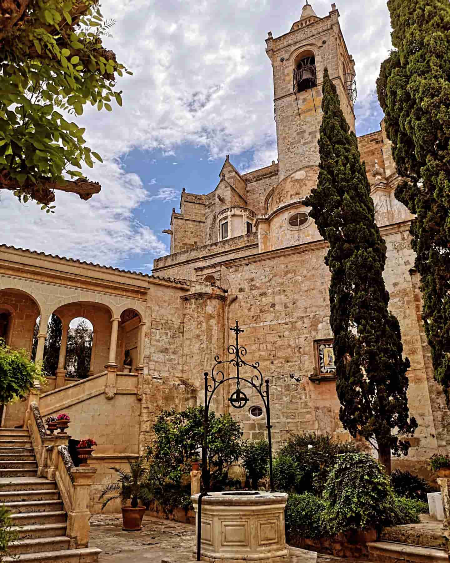
[[[12,350],[0,338],[0,405],[26,397],[36,380],[47,382],[40,366],[26,350]]]

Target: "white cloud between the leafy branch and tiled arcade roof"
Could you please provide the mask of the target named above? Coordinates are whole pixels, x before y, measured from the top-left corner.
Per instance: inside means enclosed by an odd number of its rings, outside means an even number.
[[[29,202],[21,205],[4,191],[0,216],[10,228],[2,229],[2,243],[78,260],[120,266],[131,257],[167,254],[167,247],[133,212],[149,194],[140,178],[114,162],[102,165],[102,191],[84,202],[77,195],[58,193],[55,214]],[[15,228],[19,226],[19,228]]]

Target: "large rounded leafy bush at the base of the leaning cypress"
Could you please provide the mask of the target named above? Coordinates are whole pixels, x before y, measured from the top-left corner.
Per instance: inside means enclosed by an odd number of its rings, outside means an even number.
[[[343,454],[330,471],[323,492],[322,521],[331,535],[346,530],[381,529],[393,518],[389,477],[367,454]]]

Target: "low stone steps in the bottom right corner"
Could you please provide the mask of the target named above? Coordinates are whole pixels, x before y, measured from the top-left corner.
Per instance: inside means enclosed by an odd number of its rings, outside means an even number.
[[[421,517],[420,524],[385,528],[377,542],[368,544],[369,560],[380,563],[443,563],[449,561],[442,522]]]

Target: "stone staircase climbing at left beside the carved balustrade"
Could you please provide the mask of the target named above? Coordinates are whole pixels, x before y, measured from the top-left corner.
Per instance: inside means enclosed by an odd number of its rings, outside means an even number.
[[[0,504],[11,512],[19,540],[10,545],[4,563],[98,561],[100,549],[70,548],[67,514],[56,481],[38,477],[28,430],[0,428]]]

